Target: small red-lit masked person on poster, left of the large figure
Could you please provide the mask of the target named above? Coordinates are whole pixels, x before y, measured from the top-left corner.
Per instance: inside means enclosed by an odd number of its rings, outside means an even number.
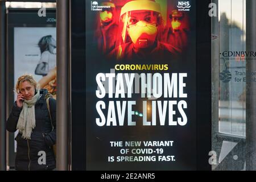
[[[104,6],[98,14],[96,22],[95,38],[98,50],[104,54],[108,54],[115,48],[115,40],[118,31],[117,13],[115,5],[112,2],[101,2],[100,6]]]

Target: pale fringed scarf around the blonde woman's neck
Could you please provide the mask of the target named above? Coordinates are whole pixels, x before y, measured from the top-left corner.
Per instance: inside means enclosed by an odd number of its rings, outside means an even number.
[[[31,100],[24,100],[22,111],[19,114],[16,129],[19,130],[24,139],[31,139],[32,129],[35,128],[35,104],[40,98],[39,90],[37,92]]]

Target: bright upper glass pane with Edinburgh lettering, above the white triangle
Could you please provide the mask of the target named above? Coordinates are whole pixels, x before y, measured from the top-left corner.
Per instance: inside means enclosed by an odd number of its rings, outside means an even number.
[[[219,1],[220,133],[245,137],[245,1]]]

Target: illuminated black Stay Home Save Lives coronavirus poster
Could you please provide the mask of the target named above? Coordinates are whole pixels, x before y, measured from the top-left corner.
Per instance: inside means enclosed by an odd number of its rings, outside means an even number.
[[[196,169],[195,1],[86,1],[86,169]]]

